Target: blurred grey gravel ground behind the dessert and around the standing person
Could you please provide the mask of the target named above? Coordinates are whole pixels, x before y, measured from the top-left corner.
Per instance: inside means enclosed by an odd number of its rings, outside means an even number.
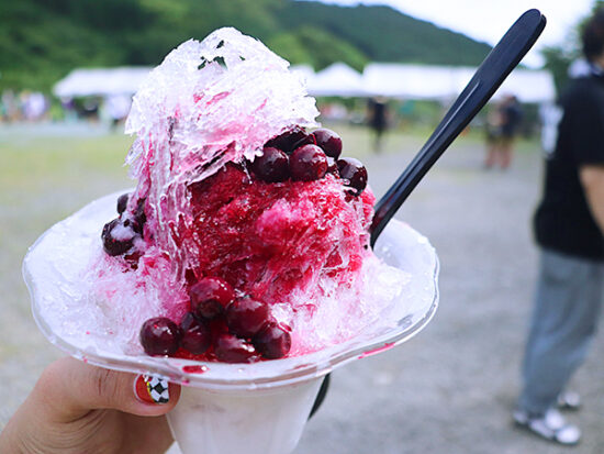
[[[403,151],[362,157],[378,196],[420,145],[412,141]],[[524,143],[510,170],[485,171],[482,152],[478,142],[455,144],[398,215],[428,236],[439,255],[435,319],[409,343],[337,369],[295,454],[604,451],[604,365],[596,361],[602,337],[573,380],[585,402],[579,413],[569,414],[584,432],[578,447],[558,447],[512,424],[536,273],[529,219],[539,192],[540,158],[535,146]],[[19,220],[7,219],[13,225],[4,226],[18,230]],[[34,239],[14,245],[4,241],[2,247],[13,256]],[[0,301],[1,429],[59,353],[31,319],[20,264],[0,257],[0,265],[2,281],[11,283]]]

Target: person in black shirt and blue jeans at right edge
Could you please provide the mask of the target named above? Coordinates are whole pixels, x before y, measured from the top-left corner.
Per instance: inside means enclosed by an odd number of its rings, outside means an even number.
[[[596,331],[604,279],[604,10],[586,22],[589,73],[559,101],[558,136],[546,153],[543,199],[534,219],[540,247],[535,307],[514,420],[535,434],[575,444],[581,432],[560,407],[578,408],[567,385]]]

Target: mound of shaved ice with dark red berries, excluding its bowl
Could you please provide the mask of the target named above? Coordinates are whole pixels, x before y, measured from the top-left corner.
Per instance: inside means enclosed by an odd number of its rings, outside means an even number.
[[[86,277],[124,353],[316,352],[374,322],[409,280],[369,247],[367,170],[320,128],[288,67],[221,29],[172,51],[134,97],[137,184],[116,198]]]

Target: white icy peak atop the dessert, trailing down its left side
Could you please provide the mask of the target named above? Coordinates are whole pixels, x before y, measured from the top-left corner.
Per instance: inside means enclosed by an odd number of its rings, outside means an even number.
[[[126,133],[136,134],[126,157],[137,180],[130,210],[145,200],[145,231],[171,257],[172,281],[183,284],[200,255],[174,233],[192,229],[189,186],[228,162],[253,160],[294,126],[317,126],[317,115],[289,63],[232,27],[182,43],[148,75],[126,121]]]

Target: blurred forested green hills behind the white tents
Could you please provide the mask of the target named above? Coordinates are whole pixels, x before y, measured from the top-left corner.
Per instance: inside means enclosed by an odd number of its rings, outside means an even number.
[[[388,7],[291,0],[0,2],[0,91],[48,91],[76,67],[157,65],[190,37],[235,26],[293,64],[478,65],[490,46]]]

